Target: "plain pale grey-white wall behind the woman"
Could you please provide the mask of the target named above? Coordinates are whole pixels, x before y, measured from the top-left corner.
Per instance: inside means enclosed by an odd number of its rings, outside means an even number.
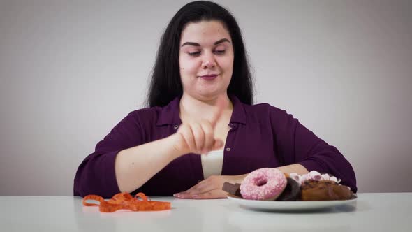
[[[71,195],[80,162],[142,108],[159,38],[187,1],[0,0],[0,195]],[[351,161],[360,192],[412,191],[411,1],[218,1],[256,103]]]

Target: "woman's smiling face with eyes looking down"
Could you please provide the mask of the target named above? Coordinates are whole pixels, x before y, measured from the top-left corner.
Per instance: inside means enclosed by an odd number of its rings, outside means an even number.
[[[179,44],[183,94],[207,101],[226,94],[233,73],[233,46],[219,21],[190,22]]]

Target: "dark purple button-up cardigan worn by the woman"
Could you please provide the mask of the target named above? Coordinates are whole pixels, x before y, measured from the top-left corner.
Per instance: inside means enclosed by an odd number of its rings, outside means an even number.
[[[351,164],[337,150],[302,126],[297,119],[267,103],[247,105],[235,96],[231,127],[226,138],[221,175],[240,175],[257,168],[301,164],[308,171],[330,173],[356,192]],[[182,121],[179,98],[168,106],[144,108],[129,113],[96,145],[80,164],[74,180],[74,195],[98,194],[111,198],[119,193],[115,157],[121,150],[172,135]],[[145,155],[145,154],[142,154]],[[136,177],[138,178],[138,177]],[[132,194],[170,196],[203,180],[198,154],[185,154],[156,173]]]

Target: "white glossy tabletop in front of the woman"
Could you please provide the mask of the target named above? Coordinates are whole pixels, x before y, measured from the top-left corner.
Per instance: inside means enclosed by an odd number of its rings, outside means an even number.
[[[412,231],[412,193],[358,194],[318,212],[259,212],[228,199],[170,201],[172,210],[102,213],[78,196],[0,196],[0,231]]]

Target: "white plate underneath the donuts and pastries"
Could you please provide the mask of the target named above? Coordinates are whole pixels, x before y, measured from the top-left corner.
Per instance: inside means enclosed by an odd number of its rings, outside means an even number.
[[[275,211],[290,211],[290,210],[322,210],[325,208],[332,208],[339,205],[346,205],[355,203],[356,197],[345,201],[256,201],[245,200],[241,198],[234,198],[228,196],[230,201],[238,203],[246,208],[255,210],[275,210]]]

